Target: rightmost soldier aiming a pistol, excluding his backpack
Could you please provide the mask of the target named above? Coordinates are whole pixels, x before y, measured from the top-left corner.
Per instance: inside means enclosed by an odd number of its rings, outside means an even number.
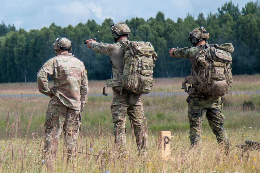
[[[181,49],[171,49],[169,54],[171,57],[187,58],[191,60],[192,71],[198,74],[198,66],[196,65],[196,57],[200,55],[200,51],[206,49],[209,33],[206,33],[204,27],[198,27],[190,32],[189,40],[194,47],[185,47]],[[233,48],[233,46],[232,46]],[[186,85],[185,82],[183,86]],[[189,92],[193,91],[192,93]],[[229,141],[226,130],[223,126],[225,116],[222,113],[222,98],[220,96],[205,95],[201,92],[197,85],[192,85],[187,91],[189,96],[188,116],[190,121],[190,142],[191,148],[200,141],[200,129],[203,117],[206,115],[212,132],[216,135],[219,145],[225,148],[225,154],[229,153]],[[195,94],[194,94],[195,93]]]

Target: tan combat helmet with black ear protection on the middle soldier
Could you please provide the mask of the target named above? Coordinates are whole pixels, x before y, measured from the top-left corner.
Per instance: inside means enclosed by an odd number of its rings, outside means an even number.
[[[117,24],[111,25],[111,34],[115,42],[119,39],[121,35],[127,35],[128,37],[130,32],[130,28],[124,22],[119,22]]]

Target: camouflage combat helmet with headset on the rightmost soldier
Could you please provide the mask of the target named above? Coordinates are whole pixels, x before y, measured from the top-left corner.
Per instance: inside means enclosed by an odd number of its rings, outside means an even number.
[[[196,46],[202,39],[207,40],[210,37],[210,34],[207,33],[203,26],[195,28],[189,33],[189,41],[193,46]]]

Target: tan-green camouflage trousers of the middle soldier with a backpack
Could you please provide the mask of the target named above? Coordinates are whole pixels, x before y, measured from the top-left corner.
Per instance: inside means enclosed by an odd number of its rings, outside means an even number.
[[[138,153],[146,155],[148,148],[147,135],[144,129],[144,109],[141,100],[135,104],[129,104],[126,92],[120,95],[120,92],[113,92],[113,102],[111,105],[111,114],[114,123],[115,143],[121,155],[126,154],[126,114],[129,116],[132,130],[136,137]]]

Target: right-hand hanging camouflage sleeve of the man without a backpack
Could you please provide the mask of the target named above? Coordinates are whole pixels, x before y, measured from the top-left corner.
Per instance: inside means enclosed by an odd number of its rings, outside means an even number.
[[[83,63],[82,65],[83,67],[82,67],[82,76],[81,76],[81,85],[80,85],[81,109],[83,109],[83,107],[88,101],[88,75]]]

